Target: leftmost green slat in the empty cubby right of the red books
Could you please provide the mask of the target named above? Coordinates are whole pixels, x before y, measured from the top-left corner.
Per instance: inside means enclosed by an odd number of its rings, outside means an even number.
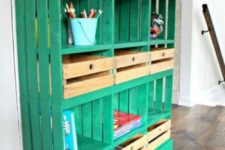
[[[149,98],[148,98],[148,111],[153,111],[155,107],[154,97],[155,97],[155,85],[154,81],[149,83]]]

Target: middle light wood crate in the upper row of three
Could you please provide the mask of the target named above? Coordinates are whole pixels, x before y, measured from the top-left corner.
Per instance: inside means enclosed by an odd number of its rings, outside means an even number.
[[[136,79],[149,73],[147,52],[120,50],[116,51],[115,55],[116,84]]]

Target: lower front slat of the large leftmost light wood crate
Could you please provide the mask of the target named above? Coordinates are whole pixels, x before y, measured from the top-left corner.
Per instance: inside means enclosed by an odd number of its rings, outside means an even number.
[[[78,96],[111,85],[113,85],[113,75],[110,72],[67,80],[64,83],[64,98]]]

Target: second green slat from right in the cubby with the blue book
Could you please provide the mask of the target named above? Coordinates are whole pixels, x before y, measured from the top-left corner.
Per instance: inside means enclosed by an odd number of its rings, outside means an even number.
[[[92,133],[93,139],[102,141],[102,100],[92,102]]]

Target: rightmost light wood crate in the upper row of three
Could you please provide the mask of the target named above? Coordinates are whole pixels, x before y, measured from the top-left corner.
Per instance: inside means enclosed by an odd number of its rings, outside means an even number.
[[[154,74],[174,67],[174,49],[155,48],[150,52],[150,73]]]

